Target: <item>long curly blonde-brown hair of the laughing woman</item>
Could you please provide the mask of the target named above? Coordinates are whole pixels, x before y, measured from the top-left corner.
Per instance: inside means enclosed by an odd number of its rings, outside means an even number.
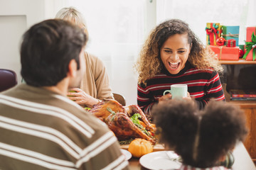
[[[223,71],[214,53],[203,46],[192,30],[188,28],[188,24],[178,19],[171,19],[156,26],[142,47],[140,57],[135,64],[139,73],[139,84],[146,84],[147,79],[154,77],[164,67],[160,57],[160,49],[164,42],[171,35],[184,33],[188,34],[188,44],[192,45],[188,62],[198,69],[213,67],[217,72]]]

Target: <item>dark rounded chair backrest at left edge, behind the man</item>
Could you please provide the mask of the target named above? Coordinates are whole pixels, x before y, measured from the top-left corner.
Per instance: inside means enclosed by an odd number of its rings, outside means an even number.
[[[16,73],[10,69],[0,69],[0,92],[17,84]]]

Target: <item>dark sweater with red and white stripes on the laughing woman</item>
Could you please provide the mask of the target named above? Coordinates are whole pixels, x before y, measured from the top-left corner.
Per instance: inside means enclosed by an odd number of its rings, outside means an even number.
[[[220,77],[213,69],[197,69],[186,62],[178,74],[170,74],[163,69],[159,74],[137,86],[137,103],[146,115],[150,115],[151,107],[158,103],[164,91],[172,84],[187,84],[191,98],[195,98],[199,108],[206,106],[210,98],[225,100]]]

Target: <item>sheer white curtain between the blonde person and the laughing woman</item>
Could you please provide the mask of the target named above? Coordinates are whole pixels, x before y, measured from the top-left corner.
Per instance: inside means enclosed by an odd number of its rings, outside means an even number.
[[[145,33],[145,0],[67,0],[85,17],[87,51],[105,63],[114,93],[127,104],[137,103],[137,76],[133,65]]]

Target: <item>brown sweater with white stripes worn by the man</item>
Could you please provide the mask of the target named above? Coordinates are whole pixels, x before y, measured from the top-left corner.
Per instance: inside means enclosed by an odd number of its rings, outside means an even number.
[[[117,138],[65,96],[21,84],[0,94],[0,169],[127,169]]]

